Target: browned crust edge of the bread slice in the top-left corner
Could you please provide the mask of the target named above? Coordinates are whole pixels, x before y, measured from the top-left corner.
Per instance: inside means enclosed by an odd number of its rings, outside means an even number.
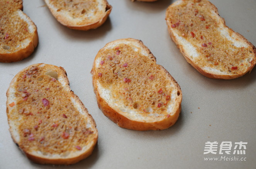
[[[25,17],[27,17],[27,19],[35,27],[35,31],[33,33],[31,41],[25,48],[22,48],[19,51],[16,51],[15,53],[1,53],[0,54],[0,62],[11,63],[11,62],[15,62],[15,61],[21,61],[21,60],[27,58],[28,56],[30,56],[38,44],[37,27],[36,27],[35,23],[25,13],[23,13],[23,14],[25,15]]]

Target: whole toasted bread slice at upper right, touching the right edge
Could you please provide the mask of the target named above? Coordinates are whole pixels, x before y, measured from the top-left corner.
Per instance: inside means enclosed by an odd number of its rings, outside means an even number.
[[[208,0],[174,2],[166,10],[166,23],[188,63],[208,78],[238,78],[255,66],[255,46],[227,27]]]

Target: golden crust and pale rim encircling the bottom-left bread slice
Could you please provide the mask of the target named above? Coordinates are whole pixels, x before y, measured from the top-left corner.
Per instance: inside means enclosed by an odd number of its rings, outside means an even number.
[[[40,64],[34,64],[31,66],[28,66],[27,68],[25,68],[24,70],[30,70],[32,68],[32,66],[36,66],[36,67],[40,67],[40,66],[44,66],[44,68],[46,69],[51,69],[51,68],[56,68],[56,70],[58,70],[58,77],[61,77],[63,79],[64,82],[64,88],[69,88],[69,81],[68,81],[68,77],[66,76],[66,71],[64,70],[64,68],[62,67],[57,67],[54,65],[46,65],[43,63]],[[90,154],[92,154],[92,151],[94,149],[94,147],[97,144],[97,139],[98,139],[98,131],[96,128],[96,124],[94,119],[92,118],[92,116],[90,114],[88,114],[87,109],[85,108],[84,104],[81,102],[81,100],[78,98],[78,96],[76,94],[73,93],[73,91],[69,89],[67,89],[68,91],[68,97],[70,98],[74,98],[76,104],[80,105],[79,107],[82,109],[82,111],[87,114],[86,117],[88,119],[88,121],[90,121],[90,124],[92,125],[91,128],[93,129],[93,138],[91,140],[91,142],[89,144],[86,144],[87,146],[89,146],[89,148],[86,151],[81,151],[79,153],[76,152],[75,155],[72,155],[72,157],[46,157],[46,156],[41,156],[40,154],[37,154],[37,152],[31,152],[27,149],[22,148],[23,146],[20,144],[20,141],[17,140],[17,131],[15,131],[15,128],[12,128],[12,122],[10,121],[12,118],[11,116],[13,116],[12,114],[10,114],[11,112],[13,112],[13,110],[10,110],[10,102],[12,102],[11,97],[13,96],[13,91],[12,89],[16,86],[14,86],[14,84],[16,83],[17,77],[21,77],[23,74],[21,74],[24,70],[20,71],[12,80],[12,82],[10,83],[10,87],[7,90],[7,116],[8,116],[8,123],[10,126],[10,133],[12,136],[12,139],[14,140],[14,142],[20,146],[20,148],[22,149],[22,151],[24,151],[24,153],[26,154],[26,156],[31,159],[32,161],[39,163],[39,164],[65,164],[65,165],[69,165],[69,164],[74,164],[82,159],[85,159],[86,157],[90,156]],[[56,97],[56,96],[55,96]],[[15,105],[16,106],[16,105]],[[15,107],[14,107],[15,108]],[[18,124],[17,124],[18,125]],[[15,133],[16,132],[16,133]],[[39,143],[38,143],[39,144]]]

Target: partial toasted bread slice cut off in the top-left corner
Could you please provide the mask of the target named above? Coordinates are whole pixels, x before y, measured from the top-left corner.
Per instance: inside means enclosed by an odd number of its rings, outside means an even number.
[[[0,62],[27,58],[38,44],[36,25],[20,10],[22,1],[3,0],[0,5]]]

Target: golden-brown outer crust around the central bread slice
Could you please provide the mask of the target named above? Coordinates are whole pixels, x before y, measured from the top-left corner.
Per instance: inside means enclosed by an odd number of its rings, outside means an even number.
[[[156,61],[155,56],[142,43],[142,41],[135,40],[133,38],[125,38],[125,39],[119,39],[119,40],[138,41],[140,43],[140,45],[142,46],[142,48],[144,48],[147,51],[148,55],[153,56],[154,60]],[[115,41],[119,41],[119,40],[115,40]],[[114,43],[115,41],[112,41],[110,43]],[[109,43],[107,43],[105,46],[107,46],[108,44]],[[103,47],[101,50],[104,50],[104,48],[105,47]],[[100,51],[96,55],[95,60],[98,58],[98,56],[100,56],[100,54],[99,54]],[[161,67],[163,68],[163,66],[161,66]],[[93,87],[94,87],[94,93],[96,94],[96,98],[97,98],[98,107],[102,110],[102,112],[105,116],[107,116],[110,120],[112,120],[118,126],[120,126],[121,128],[133,129],[133,130],[137,130],[137,131],[146,131],[146,130],[167,129],[176,123],[176,121],[179,117],[179,114],[181,112],[182,92],[181,92],[181,88],[178,85],[178,83],[175,81],[175,79],[170,75],[170,73],[165,68],[163,68],[163,71],[171,79],[171,81],[173,82],[173,85],[175,85],[177,90],[180,92],[180,95],[177,96],[176,100],[175,100],[176,104],[173,108],[175,113],[173,113],[173,115],[171,115],[169,118],[166,117],[161,121],[154,121],[154,122],[134,121],[134,120],[131,120],[131,119],[123,116],[121,113],[119,113],[119,111],[116,111],[113,108],[111,108],[109,106],[109,104],[107,104],[107,102],[100,96],[100,93],[98,91],[98,86],[97,86],[97,79],[94,78],[95,76],[97,76],[95,74],[96,71],[94,71],[95,68],[96,68],[95,62],[93,62],[93,68],[92,68],[93,80],[92,80],[92,82],[93,82]]]

